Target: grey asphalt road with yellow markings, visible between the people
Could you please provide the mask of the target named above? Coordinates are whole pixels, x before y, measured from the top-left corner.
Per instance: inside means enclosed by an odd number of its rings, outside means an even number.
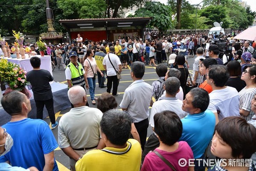
[[[192,76],[192,66],[193,66],[193,63],[194,63],[194,59],[195,59],[195,57],[188,58],[188,62],[189,62],[189,66],[190,66],[189,71],[190,71],[191,76]],[[167,65],[167,63],[163,63],[163,64]],[[64,70],[59,71],[58,68],[57,69],[55,68],[55,70],[52,73],[53,73],[53,77],[54,77],[55,82],[60,82],[60,83],[63,83],[63,84],[67,84]],[[148,67],[148,65],[146,65],[145,75],[143,77],[143,80],[151,85],[153,83],[153,81],[155,81],[157,79],[158,79],[158,76],[155,72],[155,67]],[[122,70],[122,79],[119,82],[119,87],[118,87],[118,91],[117,91],[118,93],[120,93],[120,96],[116,97],[116,101],[117,101],[118,104],[120,104],[121,101],[122,101],[122,97],[123,97],[125,89],[132,82],[133,81],[131,79],[130,70],[129,69]],[[107,90],[107,88],[99,88],[98,85],[99,84],[96,81],[96,89],[95,89],[96,97],[99,97],[102,93],[106,92],[106,90]],[[90,107],[96,107],[96,105],[93,105],[91,103],[89,90],[87,90],[87,100],[88,100],[88,103],[89,103]],[[96,101],[96,103],[97,103],[97,101]],[[118,106],[118,109],[120,109],[119,106]],[[56,120],[59,121],[61,116],[64,113],[68,112],[69,110],[70,110],[70,108],[68,108],[66,110],[63,110],[63,111],[60,111],[60,113],[56,114],[56,116],[58,116],[58,118]],[[149,109],[149,112],[150,111],[151,111],[151,109]],[[55,111],[55,112],[57,112],[57,111]],[[47,123],[50,124],[49,118],[46,118],[44,120]],[[58,140],[58,127],[56,129],[52,130],[52,132],[53,132],[56,140]],[[151,133],[153,133],[152,128],[151,128],[151,126],[148,126],[148,136],[150,136]],[[58,162],[58,167],[59,167],[60,171],[68,171],[69,170],[69,158],[67,157],[66,154],[63,153],[63,151],[61,151],[60,148],[57,148],[55,150],[55,159]]]

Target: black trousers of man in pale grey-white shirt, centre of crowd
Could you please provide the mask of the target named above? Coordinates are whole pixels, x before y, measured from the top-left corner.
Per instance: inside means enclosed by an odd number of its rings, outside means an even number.
[[[144,146],[146,143],[147,139],[147,133],[148,133],[148,118],[144,119],[143,121],[134,123],[135,128],[137,129],[139,136],[140,136],[140,143],[141,143],[141,148],[144,150]]]

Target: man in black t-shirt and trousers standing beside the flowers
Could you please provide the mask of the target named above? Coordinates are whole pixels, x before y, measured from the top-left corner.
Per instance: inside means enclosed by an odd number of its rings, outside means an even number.
[[[53,81],[53,77],[49,71],[40,69],[40,58],[36,56],[32,57],[30,59],[30,64],[32,65],[33,70],[27,73],[26,80],[32,85],[36,105],[36,118],[43,119],[45,105],[52,123],[52,129],[54,129],[58,126],[58,122],[55,121],[52,88],[49,84],[49,81]]]

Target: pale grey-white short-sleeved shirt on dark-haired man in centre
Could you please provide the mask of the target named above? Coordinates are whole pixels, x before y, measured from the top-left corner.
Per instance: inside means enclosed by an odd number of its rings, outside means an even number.
[[[149,116],[148,107],[153,90],[145,81],[136,80],[127,89],[120,107],[127,108],[128,113],[134,118],[134,123],[143,121]]]

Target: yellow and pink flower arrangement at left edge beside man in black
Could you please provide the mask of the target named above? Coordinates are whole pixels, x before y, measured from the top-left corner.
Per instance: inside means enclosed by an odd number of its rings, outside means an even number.
[[[0,77],[12,90],[21,91],[30,84],[26,81],[26,71],[18,64],[8,62],[7,59],[0,60]]]

